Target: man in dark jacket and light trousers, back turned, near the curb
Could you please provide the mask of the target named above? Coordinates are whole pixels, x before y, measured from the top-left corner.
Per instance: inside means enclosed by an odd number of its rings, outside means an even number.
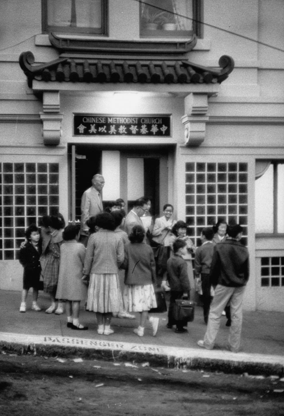
[[[210,281],[215,287],[215,296],[210,307],[207,330],[204,340],[198,341],[200,347],[212,349],[220,327],[220,318],[227,302],[231,306],[231,327],[229,349],[238,352],[242,331],[242,301],[245,285],[249,279],[249,253],[240,243],[242,227],[227,227],[227,239],[215,245]]]

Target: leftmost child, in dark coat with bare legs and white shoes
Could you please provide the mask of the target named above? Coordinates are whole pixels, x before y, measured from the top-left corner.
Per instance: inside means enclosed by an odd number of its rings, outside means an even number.
[[[25,247],[20,249],[20,263],[24,267],[23,274],[23,290],[22,303],[20,312],[26,312],[27,293],[32,287],[32,310],[41,311],[37,305],[37,296],[40,282],[40,255],[42,253],[42,245],[40,241],[40,231],[36,225],[30,225],[25,231],[27,243]]]

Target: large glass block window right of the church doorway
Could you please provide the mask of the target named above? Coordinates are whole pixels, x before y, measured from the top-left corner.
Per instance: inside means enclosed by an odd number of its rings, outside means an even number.
[[[224,218],[242,225],[247,245],[247,213],[247,163],[185,163],[185,217],[195,244],[204,227]]]

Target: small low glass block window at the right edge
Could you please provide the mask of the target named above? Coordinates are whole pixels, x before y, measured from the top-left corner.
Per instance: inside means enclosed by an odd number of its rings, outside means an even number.
[[[261,258],[261,286],[284,286],[284,257]]]

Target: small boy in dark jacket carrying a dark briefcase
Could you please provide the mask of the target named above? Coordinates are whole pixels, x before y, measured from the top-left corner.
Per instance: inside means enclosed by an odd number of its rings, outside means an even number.
[[[184,327],[187,321],[175,321],[173,317],[173,305],[176,299],[186,297],[189,299],[190,282],[188,278],[187,262],[182,258],[187,254],[187,246],[184,240],[175,240],[173,243],[173,257],[170,257],[167,262],[167,277],[170,285],[170,305],[168,310],[168,324],[167,328],[172,328],[176,325],[175,332],[187,332]]]

